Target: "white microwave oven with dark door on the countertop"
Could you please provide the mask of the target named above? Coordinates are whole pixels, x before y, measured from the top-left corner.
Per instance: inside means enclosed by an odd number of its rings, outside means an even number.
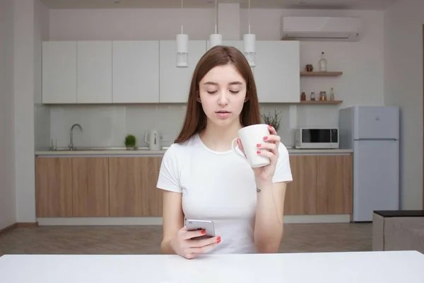
[[[296,149],[338,149],[338,128],[295,129]]]

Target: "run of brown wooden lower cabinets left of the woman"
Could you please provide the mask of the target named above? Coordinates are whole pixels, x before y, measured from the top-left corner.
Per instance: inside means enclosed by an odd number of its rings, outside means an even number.
[[[160,216],[162,156],[37,157],[37,217]]]

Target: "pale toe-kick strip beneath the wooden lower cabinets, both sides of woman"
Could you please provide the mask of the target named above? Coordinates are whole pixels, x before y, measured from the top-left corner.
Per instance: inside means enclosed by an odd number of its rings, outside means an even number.
[[[162,225],[162,217],[42,217],[40,226]],[[350,223],[350,214],[287,215],[286,224]]]

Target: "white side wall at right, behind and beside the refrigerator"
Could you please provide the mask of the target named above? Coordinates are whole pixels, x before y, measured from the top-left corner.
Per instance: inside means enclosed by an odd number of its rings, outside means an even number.
[[[424,1],[404,0],[384,15],[384,101],[401,107],[401,204],[423,208]]]

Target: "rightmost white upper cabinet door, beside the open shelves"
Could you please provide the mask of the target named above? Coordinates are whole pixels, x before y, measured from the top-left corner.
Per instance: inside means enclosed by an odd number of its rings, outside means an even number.
[[[300,101],[300,45],[298,41],[256,42],[254,77],[259,103]]]

